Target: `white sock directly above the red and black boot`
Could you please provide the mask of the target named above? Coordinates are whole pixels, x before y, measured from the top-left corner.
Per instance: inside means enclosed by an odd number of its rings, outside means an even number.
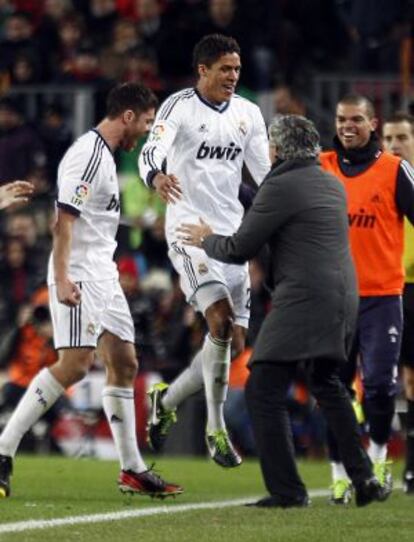
[[[147,470],[137,442],[134,390],[105,386],[102,391],[102,404],[111,428],[121,469],[134,472]]]

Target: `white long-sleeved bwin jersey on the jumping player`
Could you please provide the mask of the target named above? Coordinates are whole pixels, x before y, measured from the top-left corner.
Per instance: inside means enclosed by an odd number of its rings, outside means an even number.
[[[182,199],[167,207],[169,243],[179,224],[199,217],[217,233],[237,230],[243,216],[238,199],[243,162],[257,184],[270,169],[266,127],[255,104],[234,95],[216,107],[189,88],[161,105],[139,170],[147,184],[157,171],[174,174],[180,182]]]

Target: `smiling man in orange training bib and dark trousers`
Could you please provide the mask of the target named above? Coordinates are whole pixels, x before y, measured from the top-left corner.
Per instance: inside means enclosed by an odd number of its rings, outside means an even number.
[[[391,490],[387,443],[395,410],[400,356],[404,215],[414,223],[414,170],[399,156],[383,152],[375,130],[374,107],[364,96],[347,96],[336,109],[335,150],[321,164],[344,184],[348,198],[351,250],[359,286],[355,343],[343,379],[350,385],[360,359],[364,410],[369,425],[368,454],[380,483]],[[333,440],[332,501],[346,504],[350,484]]]

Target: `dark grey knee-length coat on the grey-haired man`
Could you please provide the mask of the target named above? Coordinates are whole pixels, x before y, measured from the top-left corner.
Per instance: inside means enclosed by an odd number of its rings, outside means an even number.
[[[358,294],[342,184],[316,160],[276,165],[231,237],[208,236],[209,257],[245,262],[267,243],[272,308],[251,362],[346,360]]]

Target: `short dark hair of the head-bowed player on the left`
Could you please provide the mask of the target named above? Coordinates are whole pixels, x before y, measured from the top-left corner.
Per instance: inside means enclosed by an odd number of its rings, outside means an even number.
[[[139,83],[121,83],[114,87],[106,100],[106,115],[114,119],[127,109],[143,113],[156,108],[158,99],[151,89]]]

